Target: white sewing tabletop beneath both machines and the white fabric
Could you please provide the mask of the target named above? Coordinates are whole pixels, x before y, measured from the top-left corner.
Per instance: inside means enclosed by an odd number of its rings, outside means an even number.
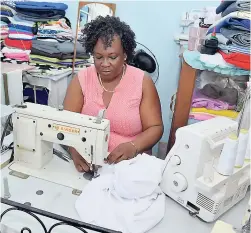
[[[31,206],[46,210],[55,214],[60,214],[69,218],[80,220],[74,208],[74,204],[78,196],[72,194],[72,189],[38,179],[30,176],[28,179],[20,179],[9,174],[10,170],[6,166],[1,170],[3,177],[8,177],[11,197],[18,203],[30,202]],[[43,190],[43,195],[37,195],[38,190]],[[233,207],[230,211],[224,214],[220,220],[239,227],[243,214],[245,212],[250,192],[247,193],[245,199]],[[3,197],[3,191],[2,191]],[[1,204],[2,212],[10,206]],[[88,211],[88,210],[87,210]],[[179,217],[177,217],[179,216]],[[43,216],[39,216],[46,225],[47,229],[57,221]],[[32,232],[44,232],[41,225],[31,216],[19,211],[7,213],[1,224],[7,225],[16,231],[20,232],[25,226],[29,226]],[[193,233],[211,233],[214,223],[206,223],[198,218],[193,218],[188,214],[188,211],[181,205],[178,205],[171,198],[166,197],[166,212],[163,220],[155,226],[149,233],[187,233],[187,229],[193,226]],[[61,226],[55,228],[53,233],[79,233],[80,231],[69,226]],[[4,232],[3,232],[4,233]],[[93,231],[88,231],[93,233]]]

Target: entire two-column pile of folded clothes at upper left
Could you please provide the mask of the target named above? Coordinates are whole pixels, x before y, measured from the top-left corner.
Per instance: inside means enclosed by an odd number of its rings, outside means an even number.
[[[72,67],[74,36],[71,23],[65,17],[68,6],[37,1],[14,3],[14,7],[9,3],[3,5],[3,9],[9,9],[9,16],[4,13],[5,21],[1,24],[5,29],[2,61],[26,62],[43,70]],[[78,44],[75,65],[85,66],[88,58],[84,47]]]

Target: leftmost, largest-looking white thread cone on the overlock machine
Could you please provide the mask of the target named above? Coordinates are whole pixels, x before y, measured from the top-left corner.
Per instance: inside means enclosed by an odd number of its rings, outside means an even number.
[[[237,156],[238,138],[230,134],[226,139],[220,155],[217,171],[221,175],[230,176],[234,172],[234,164]]]

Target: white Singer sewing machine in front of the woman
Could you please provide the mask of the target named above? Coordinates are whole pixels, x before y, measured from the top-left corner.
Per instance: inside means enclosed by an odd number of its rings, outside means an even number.
[[[32,103],[15,107],[14,162],[9,169],[17,176],[25,174],[82,189],[85,178],[72,161],[53,156],[53,143],[74,147],[97,172],[107,157],[110,135],[110,122],[102,113],[91,117]]]

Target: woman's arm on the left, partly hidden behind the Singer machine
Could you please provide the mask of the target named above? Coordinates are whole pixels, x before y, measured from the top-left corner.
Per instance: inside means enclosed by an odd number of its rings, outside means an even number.
[[[84,95],[78,81],[78,77],[75,76],[68,86],[64,99],[64,109],[71,112],[81,113],[83,105]],[[75,167],[79,172],[89,170],[89,166],[84,158],[73,147],[69,148],[69,152],[72,156]]]

